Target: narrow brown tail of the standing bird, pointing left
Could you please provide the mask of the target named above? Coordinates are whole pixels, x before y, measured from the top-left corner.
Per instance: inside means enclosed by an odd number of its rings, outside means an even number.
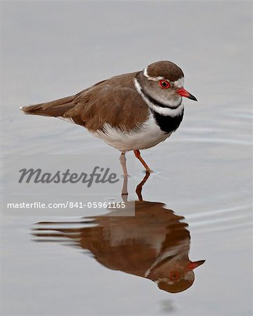
[[[68,96],[48,103],[28,105],[20,107],[25,114],[42,115],[45,117],[63,117],[65,112],[71,110],[76,104],[73,102],[76,96]]]

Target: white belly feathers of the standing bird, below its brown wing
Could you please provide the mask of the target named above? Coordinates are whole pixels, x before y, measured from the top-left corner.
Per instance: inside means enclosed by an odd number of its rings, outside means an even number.
[[[104,124],[103,131],[96,131],[93,134],[121,152],[148,149],[171,136],[171,133],[161,131],[152,114],[148,121],[135,131],[121,131],[110,124]]]

